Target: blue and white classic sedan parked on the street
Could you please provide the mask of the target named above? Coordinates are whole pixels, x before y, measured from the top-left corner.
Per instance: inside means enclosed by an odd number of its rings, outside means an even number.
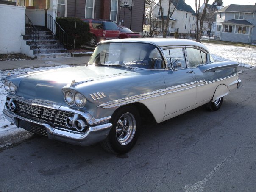
[[[17,127],[75,145],[134,146],[142,120],[157,123],[239,88],[236,62],[214,62],[203,44],[166,38],[98,43],[88,64],[9,75],[3,113]]]

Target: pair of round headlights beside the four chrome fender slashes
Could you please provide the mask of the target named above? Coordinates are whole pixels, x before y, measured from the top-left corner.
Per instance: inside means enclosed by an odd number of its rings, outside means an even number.
[[[79,92],[74,90],[63,90],[65,101],[70,106],[76,105],[78,107],[84,107],[86,104],[86,98]]]

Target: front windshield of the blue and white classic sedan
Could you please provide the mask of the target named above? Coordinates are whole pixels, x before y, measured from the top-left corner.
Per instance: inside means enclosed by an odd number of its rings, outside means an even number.
[[[164,62],[155,45],[112,42],[95,48],[88,64],[122,65],[145,69],[162,69]]]

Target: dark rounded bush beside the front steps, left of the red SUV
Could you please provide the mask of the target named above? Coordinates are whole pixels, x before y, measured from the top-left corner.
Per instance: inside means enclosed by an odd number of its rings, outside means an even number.
[[[86,43],[89,41],[91,33],[89,33],[88,23],[76,18],[75,30],[74,17],[57,17],[56,22],[58,22],[61,28],[68,34],[68,48],[72,48],[74,46],[74,37],[76,48],[80,47],[81,45],[86,45]]]

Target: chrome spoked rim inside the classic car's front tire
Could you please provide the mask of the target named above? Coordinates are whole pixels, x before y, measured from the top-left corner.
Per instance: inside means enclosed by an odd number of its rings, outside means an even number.
[[[116,137],[121,145],[127,145],[134,138],[136,120],[133,114],[123,114],[117,122]]]

